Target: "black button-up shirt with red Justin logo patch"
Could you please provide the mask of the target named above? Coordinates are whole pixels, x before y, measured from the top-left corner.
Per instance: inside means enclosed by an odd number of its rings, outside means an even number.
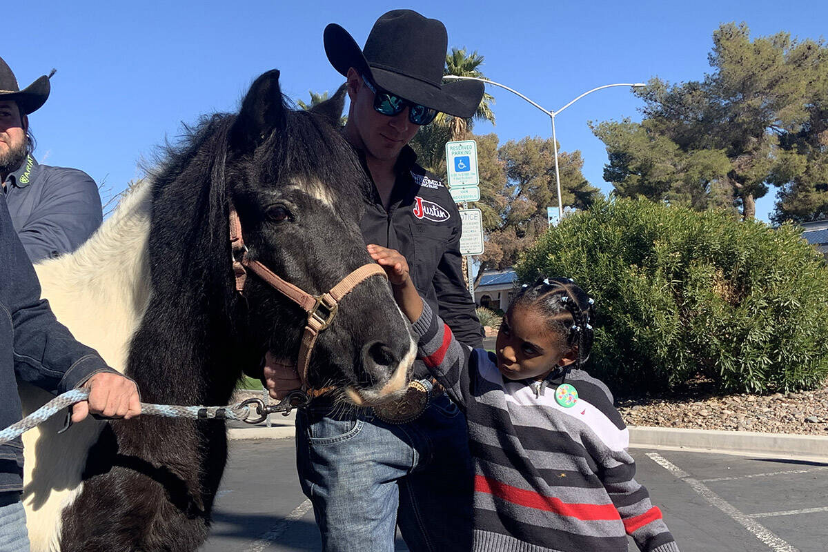
[[[360,157],[370,178],[361,152]],[[463,280],[460,211],[445,185],[416,164],[411,147],[402,149],[395,170],[388,211],[376,186],[365,198],[363,238],[401,252],[411,267],[414,286],[431,310],[440,314],[461,343],[482,347],[483,331]],[[427,373],[416,372],[418,377]]]

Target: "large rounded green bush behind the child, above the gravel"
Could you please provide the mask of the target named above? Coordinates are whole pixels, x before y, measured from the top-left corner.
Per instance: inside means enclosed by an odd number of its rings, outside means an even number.
[[[622,392],[708,377],[719,391],[820,386],[828,268],[791,225],[601,200],[524,253],[522,281],[569,276],[595,298],[590,372]]]

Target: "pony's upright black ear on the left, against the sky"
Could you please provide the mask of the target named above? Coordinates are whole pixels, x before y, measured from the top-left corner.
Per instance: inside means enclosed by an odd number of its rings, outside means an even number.
[[[269,70],[253,82],[244,97],[242,109],[230,131],[233,146],[241,151],[255,149],[274,128],[284,126],[285,111],[279,70]]]

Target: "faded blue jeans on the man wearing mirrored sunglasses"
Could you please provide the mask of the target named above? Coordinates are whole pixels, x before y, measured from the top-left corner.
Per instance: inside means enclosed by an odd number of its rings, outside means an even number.
[[[445,395],[402,425],[369,409],[301,409],[296,464],[325,552],[391,552],[397,524],[412,552],[471,550],[465,416]]]

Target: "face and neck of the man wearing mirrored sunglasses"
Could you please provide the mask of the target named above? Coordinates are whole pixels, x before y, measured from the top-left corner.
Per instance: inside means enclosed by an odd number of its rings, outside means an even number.
[[[373,108],[373,92],[362,77],[352,70],[348,73],[348,95],[351,98],[349,123],[354,125],[366,156],[379,161],[396,161],[405,146],[420,129],[420,125],[408,119],[406,107],[401,113],[389,117]]]

